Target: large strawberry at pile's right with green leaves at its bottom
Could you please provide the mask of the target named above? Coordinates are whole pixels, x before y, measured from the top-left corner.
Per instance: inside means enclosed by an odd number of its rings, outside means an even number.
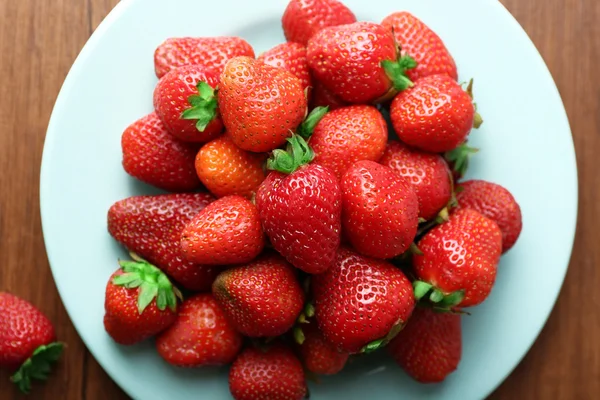
[[[445,308],[474,306],[488,297],[502,253],[502,233],[494,221],[475,210],[458,210],[417,246],[422,253],[413,256],[420,280],[415,283],[417,299],[428,295]]]

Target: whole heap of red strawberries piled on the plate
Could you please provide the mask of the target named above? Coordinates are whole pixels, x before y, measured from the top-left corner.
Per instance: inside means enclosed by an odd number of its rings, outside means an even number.
[[[123,167],[170,193],[108,212],[132,260],[106,331],[154,338],[174,366],[231,364],[235,399],[303,398],[307,372],[374,351],[442,381],[521,231],[505,188],[461,181],[472,81],[408,12],[291,0],[282,26],[258,57],[239,37],[156,49],[155,110],[124,131]]]

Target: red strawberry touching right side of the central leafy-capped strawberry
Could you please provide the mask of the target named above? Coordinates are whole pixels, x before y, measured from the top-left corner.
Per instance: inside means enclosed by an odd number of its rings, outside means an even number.
[[[359,253],[393,258],[408,250],[419,225],[419,200],[410,183],[389,167],[359,161],[341,186],[344,234]]]

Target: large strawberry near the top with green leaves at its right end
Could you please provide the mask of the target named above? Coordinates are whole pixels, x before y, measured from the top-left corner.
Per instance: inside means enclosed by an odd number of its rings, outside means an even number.
[[[405,72],[414,60],[400,56],[391,29],[372,22],[319,31],[307,57],[315,78],[348,103],[383,101],[412,85]]]

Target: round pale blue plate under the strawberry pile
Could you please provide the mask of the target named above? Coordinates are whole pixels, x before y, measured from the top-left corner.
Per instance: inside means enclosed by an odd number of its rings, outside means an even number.
[[[475,78],[484,116],[470,136],[480,148],[467,178],[486,179],[519,199],[523,231],[502,258],[488,300],[463,318],[458,370],[437,385],[415,383],[385,352],[310,383],[319,399],[481,399],[525,355],[543,327],[571,255],[577,170],[568,121],[535,47],[496,1],[346,0],[360,20],[408,10],[444,40],[459,81]],[[73,65],[48,128],[41,212],[52,271],[78,332],[96,359],[133,398],[228,399],[226,368],[179,370],[151,343],[124,349],[105,333],[104,287],[123,258],[106,228],[115,201],[155,190],[127,176],[120,136],[152,111],[152,55],[166,38],[238,35],[260,54],[284,41],[287,2],[125,0],[98,27]]]

